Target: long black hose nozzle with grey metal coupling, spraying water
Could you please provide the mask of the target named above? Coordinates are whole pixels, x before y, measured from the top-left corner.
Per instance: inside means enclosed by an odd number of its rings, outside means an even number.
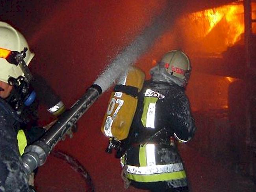
[[[58,121],[35,143],[28,145],[22,155],[23,165],[29,175],[38,166],[45,163],[47,155],[54,146],[74,126],[88,108],[102,93],[100,86],[92,85],[85,94],[66,112],[59,116]]]

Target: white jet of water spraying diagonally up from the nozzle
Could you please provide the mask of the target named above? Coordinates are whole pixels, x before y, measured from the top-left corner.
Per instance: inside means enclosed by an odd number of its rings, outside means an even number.
[[[171,2],[171,1],[170,1]],[[144,29],[141,35],[128,45],[117,57],[106,67],[104,72],[95,80],[94,84],[102,88],[102,92],[106,91],[115,80],[124,73],[129,65],[132,65],[139,59],[160,37],[165,31],[169,30],[174,18],[170,8],[177,8],[177,5],[167,6],[161,15],[157,16],[152,24]],[[168,26],[168,27],[167,27]]]

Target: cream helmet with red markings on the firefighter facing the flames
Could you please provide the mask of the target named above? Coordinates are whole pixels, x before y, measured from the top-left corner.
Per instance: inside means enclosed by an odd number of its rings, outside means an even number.
[[[161,59],[160,64],[166,69],[167,73],[180,79],[186,79],[187,73],[191,70],[187,55],[180,50],[166,53]]]

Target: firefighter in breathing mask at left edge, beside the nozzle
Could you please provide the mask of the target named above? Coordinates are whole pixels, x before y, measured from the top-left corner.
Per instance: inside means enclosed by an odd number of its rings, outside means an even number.
[[[24,36],[9,24],[0,22],[1,191],[27,192],[33,188],[28,183],[20,156],[27,144],[45,133],[45,129],[38,126],[28,129],[28,123],[37,120],[37,102],[42,100],[48,111],[56,116],[65,110],[63,102],[46,81],[30,73],[27,66],[33,57]]]

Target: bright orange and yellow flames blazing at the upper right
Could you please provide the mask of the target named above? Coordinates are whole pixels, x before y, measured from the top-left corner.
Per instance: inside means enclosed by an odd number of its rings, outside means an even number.
[[[256,17],[255,12],[256,3],[252,3],[252,18]],[[195,51],[221,53],[242,40],[243,13],[243,4],[238,2],[183,16],[180,25],[186,29],[185,38],[189,46],[191,43],[200,44],[200,48],[193,47]],[[256,31],[254,25],[252,31]]]

